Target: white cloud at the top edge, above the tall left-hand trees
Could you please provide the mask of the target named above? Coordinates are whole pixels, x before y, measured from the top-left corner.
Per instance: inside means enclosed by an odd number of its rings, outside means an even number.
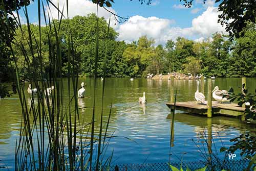
[[[57,6],[58,0],[52,0],[53,4]],[[66,5],[66,1],[62,0],[59,1],[59,9],[62,10],[64,6],[64,11],[63,14],[65,15],[65,17],[67,17],[67,5]],[[48,12],[49,9],[47,9]],[[113,13],[116,13],[115,10],[113,10],[112,8],[108,8],[108,10],[110,10]],[[51,6],[51,13],[52,13],[52,17],[53,18],[58,18],[58,11]],[[90,13],[97,13],[97,6],[96,4],[94,4],[93,2],[89,1],[89,0],[72,0],[69,1],[69,17],[72,18],[76,15],[80,15],[80,16],[87,16]],[[105,9],[98,7],[98,16],[99,17],[104,17],[106,20],[109,19],[109,17],[111,16],[112,21],[111,21],[111,27],[113,28],[117,28],[117,25],[115,26],[116,21],[114,20],[113,15],[106,11]]]

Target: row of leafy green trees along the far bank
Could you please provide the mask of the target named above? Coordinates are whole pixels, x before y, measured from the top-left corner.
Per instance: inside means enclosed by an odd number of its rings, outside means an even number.
[[[78,76],[92,77],[94,75],[95,60],[95,40],[96,40],[96,18],[95,14],[88,16],[75,16],[72,19],[63,19],[61,23],[54,20],[55,26],[59,26],[59,40],[61,42],[61,66],[62,77],[68,74],[68,39],[70,38],[69,29],[72,33],[73,46],[75,51],[73,69]],[[192,75],[204,74],[209,77],[256,77],[256,29],[252,23],[247,24],[245,35],[240,38],[230,40],[228,36],[215,33],[211,38],[202,42],[188,40],[184,37],[178,37],[176,40],[168,40],[165,45],[155,45],[152,38],[146,35],[140,37],[137,41],[125,43],[117,41],[118,33],[110,28],[109,36],[108,23],[105,19],[98,18],[99,22],[99,59],[98,59],[98,77],[103,75],[103,56],[108,56],[106,66],[106,77],[145,77],[148,73],[167,74],[167,72],[181,72]],[[41,27],[41,49],[45,66],[46,75],[51,72],[49,69],[49,51],[56,48],[54,44],[48,46],[51,37],[47,36],[48,27]],[[30,25],[33,35],[32,47],[28,42],[28,29],[23,25],[21,29],[15,31],[13,49],[17,57],[19,74],[22,79],[29,78],[29,67],[35,67],[40,61],[33,61],[33,65],[25,64],[24,50],[36,48],[39,42],[39,26]],[[52,37],[55,33],[51,33]],[[19,42],[25,45],[20,47]],[[32,59],[38,56],[27,54]],[[34,58],[36,59],[36,58]],[[11,68],[12,62],[5,65]],[[3,67],[3,66],[2,66]],[[39,68],[38,68],[39,69]],[[9,77],[0,77],[2,81],[11,81],[14,69],[7,69]],[[39,70],[38,70],[39,72]],[[6,79],[6,80],[4,80]]]

